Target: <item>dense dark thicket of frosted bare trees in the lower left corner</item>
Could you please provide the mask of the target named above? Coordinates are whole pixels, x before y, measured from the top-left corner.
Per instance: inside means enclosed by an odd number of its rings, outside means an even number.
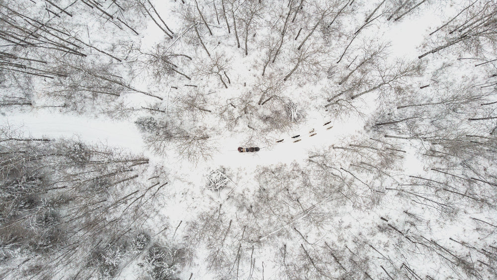
[[[149,247],[147,212],[166,182],[143,178],[147,158],[3,132],[1,278],[112,278]]]

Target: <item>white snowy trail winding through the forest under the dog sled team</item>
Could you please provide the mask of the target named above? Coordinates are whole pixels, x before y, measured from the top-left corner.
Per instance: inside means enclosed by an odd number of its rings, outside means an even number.
[[[281,134],[279,139],[284,139],[283,142],[275,143],[275,145],[268,147],[260,145],[262,149],[255,153],[240,153],[237,151],[237,148],[241,146],[242,139],[225,138],[222,141],[219,140],[217,143],[218,150],[214,153],[212,159],[196,164],[172,156],[155,155],[149,152],[143,143],[140,131],[132,122],[125,123],[108,118],[89,118],[39,112],[8,116],[2,119],[0,124],[10,125],[11,128],[24,133],[24,137],[78,137],[86,143],[105,143],[112,147],[127,149],[136,154],[143,153],[151,161],[163,164],[166,169],[174,166],[174,171],[168,171],[170,173],[168,176],[169,187],[173,188],[174,192],[182,193],[183,195],[178,196],[175,202],[170,201],[170,203],[181,208],[180,205],[183,199],[186,199],[184,196],[186,193],[190,195],[192,194],[191,191],[202,191],[201,187],[205,186],[206,176],[211,170],[219,169],[222,166],[229,168],[235,174],[242,176],[232,178],[236,182],[236,185],[232,187],[245,189],[255,184],[249,178],[253,177],[257,168],[277,164],[290,165],[294,162],[305,165],[310,151],[329,147],[335,143],[342,143],[344,137],[362,133],[364,127],[364,123],[357,120],[348,122],[337,120],[326,126],[323,124],[327,121],[321,118],[313,119],[310,122],[315,125],[310,125],[308,122],[303,124],[301,129],[292,131],[293,133]],[[331,129],[327,129],[331,126]],[[314,133],[317,134],[309,137],[309,131],[313,128],[315,129]],[[297,134],[301,136],[295,139],[291,138]],[[240,135],[240,137],[243,136]],[[293,141],[297,139],[301,139],[301,141],[294,143]],[[204,197],[204,194],[197,193],[197,195],[198,197]],[[224,200],[226,199],[224,195],[226,193],[220,198],[217,198],[216,195],[212,197],[213,199]],[[189,211],[180,211],[177,214],[176,220],[184,220],[187,219]],[[169,213],[169,215],[171,214]]]

